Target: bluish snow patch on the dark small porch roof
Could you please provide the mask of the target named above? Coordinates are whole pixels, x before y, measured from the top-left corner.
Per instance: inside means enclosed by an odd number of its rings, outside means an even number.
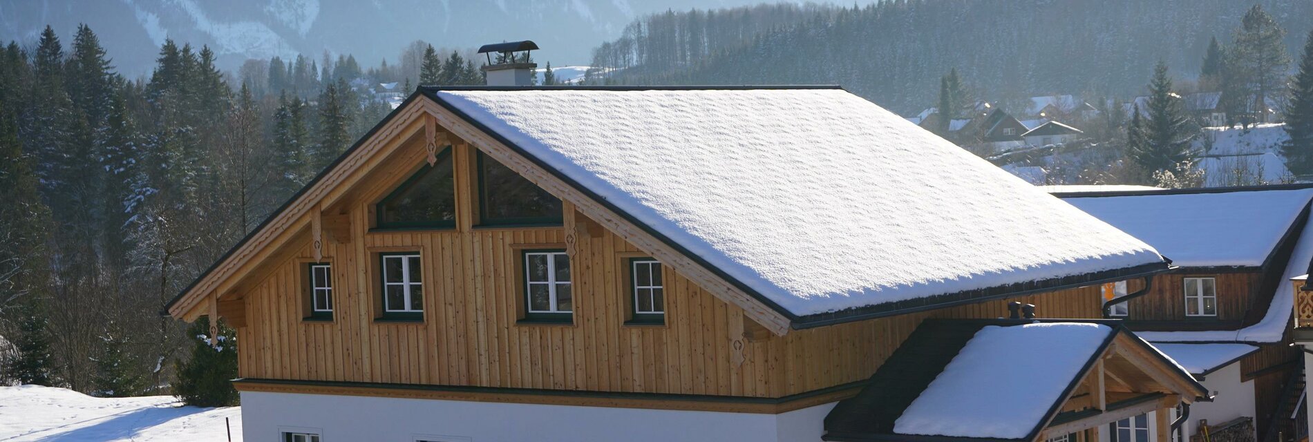
[[[1025,438],[1112,333],[1087,323],[985,327],[907,405],[894,433]]]

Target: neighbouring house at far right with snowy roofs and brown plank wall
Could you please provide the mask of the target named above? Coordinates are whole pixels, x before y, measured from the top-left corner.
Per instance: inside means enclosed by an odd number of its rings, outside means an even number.
[[[1192,408],[1184,434],[1292,441],[1302,372],[1288,333],[1287,281],[1313,260],[1313,186],[1058,195],[1173,260],[1170,273],[1104,292],[1109,316],[1216,393]]]

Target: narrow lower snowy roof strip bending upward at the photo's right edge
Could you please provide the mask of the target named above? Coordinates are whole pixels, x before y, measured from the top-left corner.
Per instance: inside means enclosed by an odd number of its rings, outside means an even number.
[[[1313,223],[1305,223],[1295,243],[1291,260],[1281,273],[1283,281],[1308,275],[1309,262],[1313,262]],[[1280,342],[1289,329],[1295,315],[1295,285],[1279,283],[1267,312],[1254,325],[1238,331],[1192,331],[1192,332],[1140,332],[1140,337],[1152,342]]]

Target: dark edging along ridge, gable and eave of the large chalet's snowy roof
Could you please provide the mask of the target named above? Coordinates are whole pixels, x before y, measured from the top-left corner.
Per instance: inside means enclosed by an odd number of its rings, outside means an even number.
[[[839,90],[844,90],[842,87],[835,87],[835,85],[817,85],[817,87],[811,87],[811,85],[773,85],[773,87],[420,87],[419,88],[420,93],[424,93],[429,100],[433,100],[433,102],[439,104],[440,106],[442,106],[444,109],[446,109],[452,114],[460,117],[466,123],[469,123],[469,125],[479,129],[481,131],[483,131],[488,136],[492,136],[494,139],[496,139],[498,142],[500,142],[506,147],[508,147],[512,151],[515,151],[516,153],[519,153],[521,157],[529,160],[530,163],[533,163],[538,168],[541,168],[544,171],[548,171],[549,173],[551,173],[553,176],[555,176],[558,180],[561,180],[566,185],[574,188],[579,193],[583,193],[590,199],[592,199],[592,201],[603,205],[604,207],[607,207],[612,212],[620,215],[621,218],[624,218],[629,223],[632,223],[634,226],[638,226],[639,228],[643,230],[643,232],[646,232],[646,233],[651,235],[653,237],[655,237],[656,240],[664,243],[667,247],[678,251],[680,254],[684,254],[689,260],[693,260],[693,262],[697,262],[702,268],[710,270],[712,273],[714,273],[721,279],[729,282],[730,285],[733,285],[734,287],[739,289],[741,291],[748,294],[750,296],[752,296],[754,299],[756,299],[762,304],[769,307],[771,310],[773,310],[777,313],[783,315],[784,317],[789,319],[789,321],[792,323],[792,327],[794,329],[814,328],[814,327],[822,327],[822,325],[832,325],[832,324],[840,324],[840,323],[848,323],[848,321],[857,321],[857,320],[865,320],[865,319],[873,319],[873,317],[906,315],[906,313],[913,313],[913,312],[919,312],[919,311],[937,310],[937,308],[952,307],[952,306],[961,306],[961,304],[972,304],[972,303],[979,303],[979,302],[991,300],[991,299],[1012,298],[1012,296],[1020,296],[1020,295],[1027,295],[1027,294],[1033,294],[1033,292],[1056,291],[1056,290],[1064,290],[1064,289],[1083,287],[1083,286],[1102,283],[1102,282],[1112,282],[1112,281],[1121,281],[1121,279],[1128,279],[1128,278],[1136,278],[1136,277],[1144,277],[1144,275],[1157,274],[1157,273],[1162,273],[1162,271],[1167,270],[1167,264],[1166,262],[1157,262],[1157,264],[1141,265],[1141,266],[1129,268],[1129,269],[1116,269],[1116,270],[1108,270],[1108,271],[1099,271],[1099,273],[1094,273],[1094,274],[1082,274],[1082,275],[1074,275],[1074,277],[1052,278],[1052,279],[1044,279],[1044,281],[1039,281],[1039,282],[1035,282],[1035,281],[1032,281],[1032,282],[1022,282],[1022,283],[1016,283],[1016,285],[987,287],[987,289],[981,289],[981,290],[969,290],[969,291],[960,291],[960,292],[949,292],[949,294],[935,295],[935,296],[920,298],[920,299],[913,299],[913,300],[905,300],[905,302],[881,303],[881,304],[874,304],[874,306],[868,306],[868,307],[861,307],[861,308],[852,308],[852,310],[846,310],[846,311],[839,311],[839,312],[831,312],[831,313],[818,313],[818,315],[800,316],[800,315],[796,315],[796,313],[785,310],[784,307],[781,307],[779,303],[771,300],[769,298],[763,296],[760,292],[758,292],[756,290],[752,290],[751,287],[748,287],[742,281],[738,281],[737,278],[730,277],[722,269],[712,265],[705,258],[702,258],[702,257],[700,257],[700,256],[689,252],[683,245],[675,243],[674,240],[671,240],[666,235],[662,235],[656,230],[651,228],[651,226],[647,226],[646,223],[638,220],[637,218],[634,218],[629,212],[626,212],[624,210],[620,210],[618,207],[616,207],[614,203],[612,203],[607,198],[601,198],[599,194],[596,194],[591,189],[580,185],[574,178],[571,178],[571,177],[566,176],[565,173],[562,173],[561,171],[557,171],[555,168],[548,165],[545,161],[542,161],[541,159],[538,159],[536,155],[530,153],[524,147],[520,147],[516,143],[513,143],[509,139],[507,139],[506,136],[502,136],[500,134],[498,134],[496,131],[494,131],[490,127],[484,126],[483,123],[478,122],[477,119],[474,119],[473,117],[470,117],[465,111],[462,111],[458,108],[453,106],[452,104],[446,102],[446,100],[442,100],[437,94],[439,92],[445,92],[445,90],[723,90],[723,89],[735,89],[735,90],[738,90],[738,89],[742,89],[742,90],[751,90],[751,89],[839,89]]]

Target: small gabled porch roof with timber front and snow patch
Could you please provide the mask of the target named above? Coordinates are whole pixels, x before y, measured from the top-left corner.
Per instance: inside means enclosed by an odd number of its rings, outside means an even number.
[[[826,417],[826,441],[1043,441],[1205,399],[1113,320],[926,320]]]

